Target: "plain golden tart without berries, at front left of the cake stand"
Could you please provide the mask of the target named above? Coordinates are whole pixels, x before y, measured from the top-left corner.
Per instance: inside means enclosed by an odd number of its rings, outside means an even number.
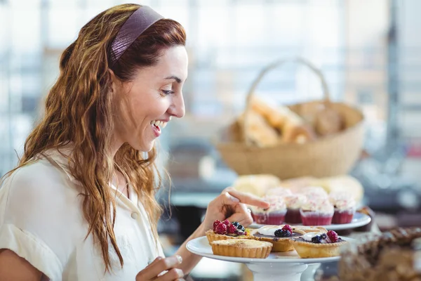
[[[210,242],[210,246],[218,256],[250,259],[266,259],[272,249],[272,243],[249,239],[218,240]]]

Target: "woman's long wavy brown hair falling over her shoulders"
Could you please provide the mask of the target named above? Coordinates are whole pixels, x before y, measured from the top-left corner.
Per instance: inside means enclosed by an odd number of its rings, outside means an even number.
[[[82,209],[89,225],[87,236],[93,234],[99,242],[106,271],[112,270],[108,241],[123,266],[114,235],[115,192],[109,188],[114,172],[121,172],[138,193],[155,238],[162,212],[155,199],[161,185],[154,164],[155,148],[145,153],[124,144],[112,158],[114,122],[109,69],[119,80],[131,81],[139,67],[155,65],[163,49],[185,46],[186,41],[185,30],[178,22],[162,19],[145,30],[116,64],[109,65],[112,40],[138,8],[135,4],[114,6],[81,28],[76,41],[61,55],[60,75],[46,98],[44,117],[25,141],[25,152],[18,166],[8,173],[36,161],[47,150],[70,145],[69,170],[83,188]]]

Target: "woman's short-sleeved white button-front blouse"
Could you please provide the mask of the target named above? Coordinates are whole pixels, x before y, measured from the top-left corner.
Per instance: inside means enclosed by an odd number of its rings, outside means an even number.
[[[154,242],[147,213],[136,193],[130,200],[114,186],[114,233],[123,256],[109,244],[111,273],[105,273],[101,250],[93,244],[78,196],[80,185],[67,170],[67,158],[48,152],[33,164],[8,177],[0,188],[0,249],[11,249],[50,280],[135,280],[156,256],[163,256]]]

